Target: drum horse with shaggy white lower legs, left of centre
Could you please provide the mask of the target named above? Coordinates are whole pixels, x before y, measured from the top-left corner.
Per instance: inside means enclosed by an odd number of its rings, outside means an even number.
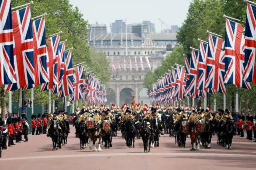
[[[92,119],[92,118],[91,118]],[[92,119],[93,120],[93,119]],[[87,120],[88,121],[88,120]],[[90,121],[90,120],[89,120]],[[94,122],[94,120],[93,120]],[[102,134],[100,134],[100,125],[98,122],[94,122],[94,128],[88,128],[88,135],[89,135],[89,138],[90,138],[90,145],[89,145],[89,148],[92,149],[93,152],[95,151],[102,151],[101,148],[100,148],[100,139],[102,138]],[[99,147],[98,147],[98,150],[96,149],[96,146],[95,146],[95,143],[97,141],[97,139],[99,139]],[[93,148],[92,148],[92,142],[93,142]]]

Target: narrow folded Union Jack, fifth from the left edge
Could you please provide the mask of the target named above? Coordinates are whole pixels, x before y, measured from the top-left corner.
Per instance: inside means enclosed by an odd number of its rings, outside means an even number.
[[[55,59],[54,67],[54,85],[52,87],[52,94],[56,94],[61,89],[61,81],[64,76],[64,67],[65,67],[65,47],[66,43],[61,43],[58,47],[58,56]]]

